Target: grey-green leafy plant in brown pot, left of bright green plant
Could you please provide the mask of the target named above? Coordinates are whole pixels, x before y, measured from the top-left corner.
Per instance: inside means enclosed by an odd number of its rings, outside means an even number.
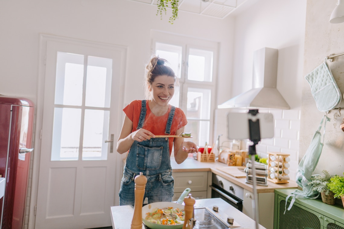
[[[322,202],[334,205],[336,203],[334,193],[327,186],[333,175],[330,175],[327,170],[323,170],[322,172],[324,175],[312,176],[308,184],[312,185],[312,191],[318,191],[321,194]]]

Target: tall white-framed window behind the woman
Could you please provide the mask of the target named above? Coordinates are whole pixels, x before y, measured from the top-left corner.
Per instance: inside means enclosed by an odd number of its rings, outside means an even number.
[[[198,146],[213,141],[216,72],[214,58],[217,43],[152,31],[155,55],[169,61],[179,78],[179,87],[170,104],[180,107],[187,118],[185,132],[190,132]],[[187,139],[186,139],[187,140]]]

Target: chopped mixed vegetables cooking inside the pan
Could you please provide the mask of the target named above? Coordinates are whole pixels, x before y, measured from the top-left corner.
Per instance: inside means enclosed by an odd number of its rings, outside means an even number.
[[[154,208],[151,212],[146,213],[146,219],[154,224],[176,225],[184,224],[184,209],[166,207]]]

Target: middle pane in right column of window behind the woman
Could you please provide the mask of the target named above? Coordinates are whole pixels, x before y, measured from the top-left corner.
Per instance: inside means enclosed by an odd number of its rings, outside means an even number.
[[[210,89],[188,88],[186,117],[188,119],[210,119],[210,97]]]

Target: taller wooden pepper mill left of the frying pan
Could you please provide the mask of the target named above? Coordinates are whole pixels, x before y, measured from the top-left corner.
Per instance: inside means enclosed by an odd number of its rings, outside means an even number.
[[[146,190],[147,178],[140,172],[140,175],[136,176],[135,182],[135,203],[134,203],[134,215],[131,221],[131,229],[142,229],[142,203],[144,191]]]

